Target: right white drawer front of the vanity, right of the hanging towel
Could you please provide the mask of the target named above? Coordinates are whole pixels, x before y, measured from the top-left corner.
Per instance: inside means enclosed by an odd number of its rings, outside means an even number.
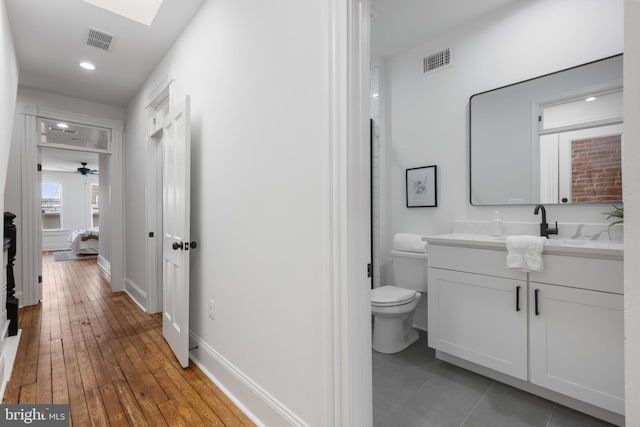
[[[624,293],[623,261],[543,254],[544,271],[529,274],[531,282]]]

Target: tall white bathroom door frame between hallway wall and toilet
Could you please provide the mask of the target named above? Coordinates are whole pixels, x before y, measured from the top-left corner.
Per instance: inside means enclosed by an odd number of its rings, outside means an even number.
[[[333,372],[327,413],[335,426],[372,425],[369,21],[369,0],[331,0],[326,155],[332,280],[325,306]]]

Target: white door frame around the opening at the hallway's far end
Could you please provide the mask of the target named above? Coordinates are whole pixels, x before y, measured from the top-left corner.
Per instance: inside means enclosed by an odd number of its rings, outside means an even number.
[[[124,290],[125,247],[124,247],[124,162],[122,120],[105,119],[93,115],[74,113],[57,108],[19,103],[22,167],[22,295],[23,306],[35,305],[42,299],[42,236],[40,234],[40,178],[38,175],[38,117],[73,122],[105,128],[111,131],[109,153],[111,171],[111,289]]]

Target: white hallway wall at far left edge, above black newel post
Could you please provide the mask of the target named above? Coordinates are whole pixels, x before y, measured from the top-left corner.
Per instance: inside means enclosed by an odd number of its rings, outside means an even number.
[[[5,2],[0,4],[0,194],[4,194],[18,89],[18,63]],[[8,210],[0,197],[0,212]],[[4,228],[0,230],[0,241]]]

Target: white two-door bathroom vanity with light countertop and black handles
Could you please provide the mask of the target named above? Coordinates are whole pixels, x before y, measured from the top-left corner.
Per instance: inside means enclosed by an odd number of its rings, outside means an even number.
[[[544,271],[508,269],[504,237],[428,241],[438,358],[621,424],[623,245],[549,240]]]

